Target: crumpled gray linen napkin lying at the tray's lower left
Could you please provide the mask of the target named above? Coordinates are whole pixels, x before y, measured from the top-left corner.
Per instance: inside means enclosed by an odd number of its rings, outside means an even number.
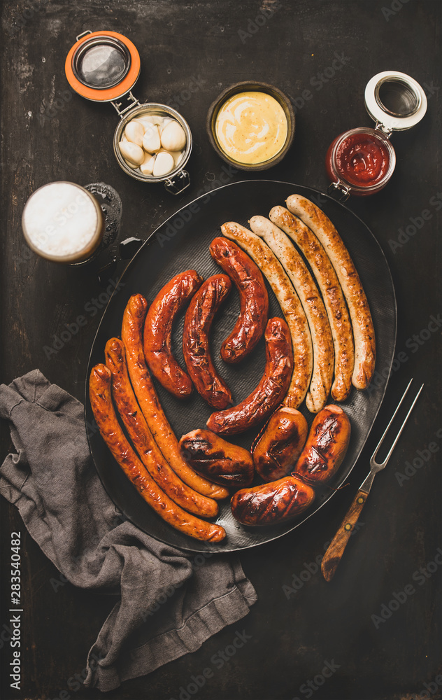
[[[85,685],[112,690],[247,615],[257,595],[237,556],[188,554],[118,517],[79,401],[34,370],[0,386],[0,417],[11,421],[17,449],[1,466],[1,494],[67,580],[118,596],[87,657]]]

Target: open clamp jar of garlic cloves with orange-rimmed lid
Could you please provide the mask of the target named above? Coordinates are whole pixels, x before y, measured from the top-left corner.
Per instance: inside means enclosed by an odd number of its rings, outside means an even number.
[[[142,182],[164,182],[168,192],[178,195],[190,185],[184,167],[192,151],[192,133],[175,109],[157,102],[140,104],[134,97],[131,89],[140,65],[138,50],[126,36],[87,30],[69,51],[65,72],[69,85],[82,97],[115,107],[120,123],[113,150],[120,168]],[[122,97],[127,97],[127,104]]]

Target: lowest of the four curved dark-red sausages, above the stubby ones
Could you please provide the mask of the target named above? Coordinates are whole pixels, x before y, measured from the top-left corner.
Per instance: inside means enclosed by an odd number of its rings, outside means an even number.
[[[293,351],[290,330],[283,318],[269,318],[264,333],[266,367],[261,381],[241,403],[213,413],[206,425],[218,435],[233,435],[262,423],[283,400],[290,385]]]

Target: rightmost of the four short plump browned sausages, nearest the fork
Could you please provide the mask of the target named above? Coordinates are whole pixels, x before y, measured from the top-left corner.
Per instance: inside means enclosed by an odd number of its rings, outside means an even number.
[[[340,406],[330,404],[312,423],[306,446],[292,474],[308,484],[325,484],[340,467],[350,442],[350,421]]]

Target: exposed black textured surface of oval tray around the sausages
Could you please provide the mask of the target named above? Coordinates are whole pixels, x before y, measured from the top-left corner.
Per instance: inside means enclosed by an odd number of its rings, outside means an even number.
[[[129,263],[122,283],[124,286],[110,298],[103,318],[97,330],[90,353],[85,382],[85,420],[93,425],[94,416],[88,396],[88,378],[93,365],[104,362],[104,346],[113,336],[120,336],[124,307],[129,297],[135,293],[143,294],[148,302],[162,286],[178,272],[196,269],[204,279],[221,272],[212,260],[208,246],[212,239],[221,235],[220,226],[226,221],[236,221],[245,226],[248,219],[255,214],[268,216],[271,207],[284,204],[289,195],[298,193],[317,203],[325,214],[331,218],[341,234],[369,300],[376,332],[377,360],[376,367],[386,370],[392,364],[396,339],[396,300],[390,269],[378,242],[366,225],[355,215],[331,197],[316,190],[291,183],[277,181],[243,181],[224,186],[212,193],[202,195],[191,204],[173,214],[143,244]],[[276,297],[269,290],[269,317],[283,316]],[[238,293],[232,288],[231,295],[222,311],[215,318],[211,337],[213,359],[217,370],[227,381],[237,403],[247,396],[259,382],[264,371],[264,339],[259,342],[248,358],[239,365],[227,365],[220,359],[220,346],[229,335],[239,312]],[[173,352],[178,361],[183,363],[181,339],[184,314],[180,316],[173,330]],[[164,411],[178,438],[196,428],[205,428],[206,420],[211,414],[209,407],[195,392],[185,402],[173,398],[157,382],[157,391]],[[313,507],[298,519],[261,528],[240,525],[233,518],[229,500],[220,504],[220,515],[216,522],[224,526],[227,537],[220,544],[199,542],[176,531],[153,512],[138,494],[129,479],[124,475],[106,444],[99,435],[88,430],[90,449],[95,465],[106,491],[124,515],[141,530],[166,542],[166,544],[194,552],[231,552],[245,549],[276,539],[290,532],[301,522],[312,517],[324,503],[332,498],[334,490],[350,474],[357,458],[364,447],[373,421],[376,418],[385,393],[386,383],[376,391],[357,391],[352,388],[343,408],[350,418],[352,435],[345,460],[329,486],[318,491]],[[308,412],[305,403],[300,409],[309,425],[313,415]],[[257,430],[242,435],[229,437],[231,442],[250,448]]]

